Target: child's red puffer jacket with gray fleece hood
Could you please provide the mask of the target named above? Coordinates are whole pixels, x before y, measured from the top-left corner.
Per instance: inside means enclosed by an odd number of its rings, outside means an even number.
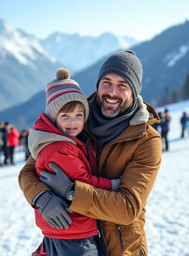
[[[77,138],[66,136],[51,124],[45,114],[40,115],[40,118],[34,124],[34,129],[32,129],[29,137],[29,145],[32,155],[37,158],[36,169],[39,176],[44,169],[54,173],[49,167],[49,163],[54,162],[60,166],[72,181],[79,180],[91,184],[95,188],[111,190],[110,180],[93,176],[93,174],[97,175],[97,165],[89,140],[85,145]],[[57,141],[61,139],[63,141]],[[47,143],[49,144],[47,145]],[[44,145],[46,146],[44,147]],[[36,156],[36,151],[40,151],[38,157]],[[77,239],[97,235],[98,230],[95,219],[76,212],[71,213],[70,216],[72,219],[70,228],[57,229],[52,228],[43,219],[40,212],[35,210],[36,225],[42,229],[44,236],[59,239]]]

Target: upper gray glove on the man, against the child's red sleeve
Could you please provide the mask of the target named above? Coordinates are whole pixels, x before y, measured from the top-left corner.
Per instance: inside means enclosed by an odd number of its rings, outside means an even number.
[[[41,177],[39,179],[45,183],[57,196],[67,198],[67,194],[70,191],[74,191],[74,183],[57,164],[49,163],[49,167],[56,172],[56,174],[43,170],[40,173]]]

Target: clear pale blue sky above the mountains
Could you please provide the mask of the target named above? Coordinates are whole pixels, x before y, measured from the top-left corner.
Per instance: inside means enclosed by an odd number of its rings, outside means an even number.
[[[82,36],[111,32],[142,41],[189,20],[189,1],[1,0],[0,18],[39,38],[55,31]]]

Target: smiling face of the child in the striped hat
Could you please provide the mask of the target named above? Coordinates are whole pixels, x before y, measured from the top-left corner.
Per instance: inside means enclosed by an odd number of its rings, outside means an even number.
[[[66,135],[76,137],[83,130],[83,110],[79,106],[76,106],[72,113],[60,112],[56,119],[56,126]]]

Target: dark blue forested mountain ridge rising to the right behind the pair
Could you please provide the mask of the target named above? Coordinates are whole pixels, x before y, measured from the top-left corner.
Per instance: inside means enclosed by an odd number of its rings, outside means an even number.
[[[186,21],[163,31],[151,41],[143,42],[132,48],[143,66],[141,91],[143,100],[155,106],[158,100],[163,99],[165,86],[169,89],[168,94],[171,94],[173,88],[181,94],[180,84],[185,81],[186,73],[189,71],[188,45],[189,21]],[[103,57],[94,65],[71,76],[79,83],[86,96],[96,90],[98,72],[107,57]],[[45,91],[41,91],[28,102],[0,112],[0,120],[6,119],[17,124],[18,116],[22,115],[25,123],[31,126],[39,114],[45,111],[45,104]]]

